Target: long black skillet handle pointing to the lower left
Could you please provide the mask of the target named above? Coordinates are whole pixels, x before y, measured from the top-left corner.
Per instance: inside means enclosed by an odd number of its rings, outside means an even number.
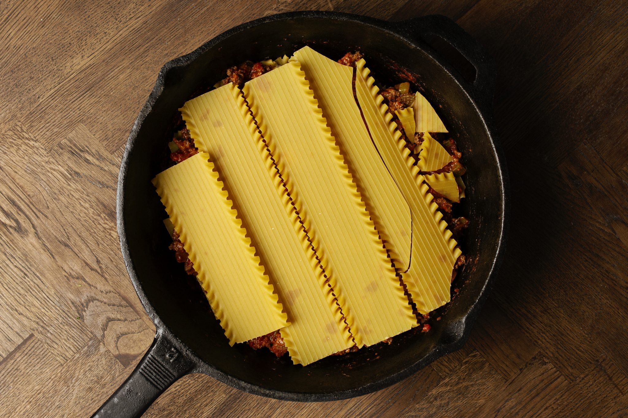
[[[158,329],[153,345],[135,370],[92,418],[141,417],[159,395],[192,367],[193,362]]]

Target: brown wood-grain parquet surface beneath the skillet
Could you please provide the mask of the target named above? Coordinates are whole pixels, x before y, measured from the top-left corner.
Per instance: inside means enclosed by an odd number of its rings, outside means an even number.
[[[353,5],[349,4],[353,3]],[[318,404],[205,375],[149,417],[628,415],[628,14],[618,1],[0,2],[0,415],[92,414],[154,326],[116,233],[122,149],[160,67],[267,14],[440,13],[497,61],[506,259],[467,345]]]

